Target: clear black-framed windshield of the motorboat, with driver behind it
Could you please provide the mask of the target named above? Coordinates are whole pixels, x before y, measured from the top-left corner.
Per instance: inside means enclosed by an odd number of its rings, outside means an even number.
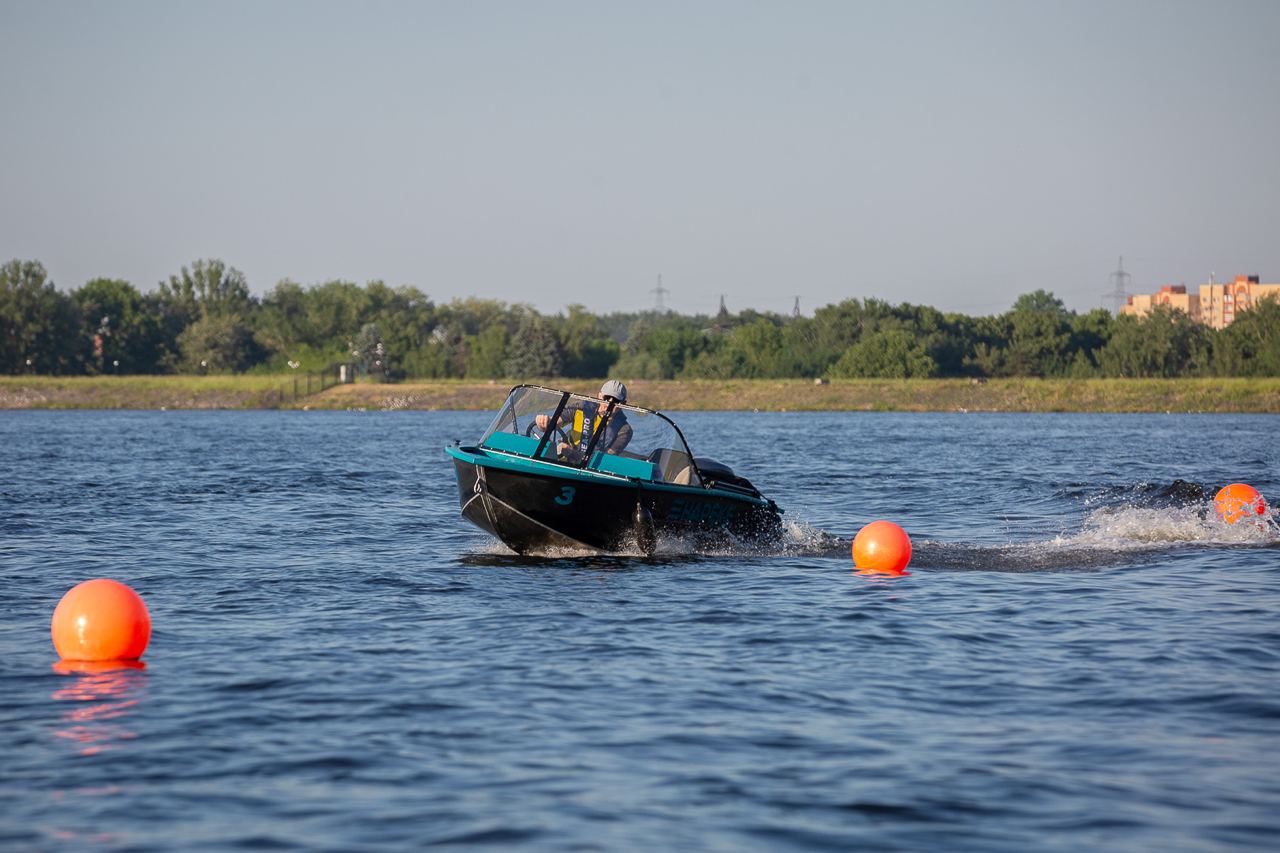
[[[605,420],[607,409],[608,403],[595,397],[517,386],[480,446],[532,457],[543,437],[538,416],[547,415],[550,423],[559,411],[557,429],[543,447],[545,461],[657,483],[701,485],[685,437],[666,415],[620,403]]]

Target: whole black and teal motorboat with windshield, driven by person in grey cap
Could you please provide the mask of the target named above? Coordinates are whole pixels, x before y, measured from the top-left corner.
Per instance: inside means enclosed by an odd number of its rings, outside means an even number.
[[[695,457],[675,421],[616,398],[522,384],[453,459],[462,516],[517,553],[654,553],[782,533],[782,511],[749,480]]]

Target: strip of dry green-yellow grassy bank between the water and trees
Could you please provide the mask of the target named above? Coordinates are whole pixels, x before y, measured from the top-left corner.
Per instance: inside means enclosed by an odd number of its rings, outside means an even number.
[[[599,382],[553,387],[593,392]],[[1267,379],[801,379],[628,383],[641,406],[671,411],[1280,412]],[[305,383],[302,384],[305,388]],[[495,409],[507,382],[338,386],[293,400],[293,377],[3,377],[0,409]]]

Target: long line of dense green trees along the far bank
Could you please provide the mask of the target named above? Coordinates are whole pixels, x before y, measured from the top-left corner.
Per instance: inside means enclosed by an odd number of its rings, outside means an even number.
[[[849,298],[812,318],[744,310],[545,315],[413,287],[282,280],[262,297],[220,260],[150,292],[95,278],[58,289],[38,261],[0,266],[6,374],[284,373],[355,361],[383,379],[532,377],[1275,377],[1280,302],[1222,330],[1183,311],[1078,314],[1043,289],[992,316]]]

